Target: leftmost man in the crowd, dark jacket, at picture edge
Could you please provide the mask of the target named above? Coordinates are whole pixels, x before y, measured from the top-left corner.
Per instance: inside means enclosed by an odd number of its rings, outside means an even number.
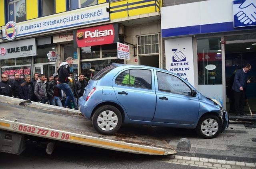
[[[0,94],[12,97],[12,83],[8,81],[8,75],[1,75],[2,81],[0,82]]]

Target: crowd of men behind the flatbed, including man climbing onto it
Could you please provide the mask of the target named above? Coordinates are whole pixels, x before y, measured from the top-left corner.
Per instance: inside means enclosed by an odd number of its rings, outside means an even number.
[[[40,103],[48,103],[59,107],[78,109],[78,98],[84,93],[87,81],[84,74],[79,74],[79,80],[74,83],[70,66],[73,58],[68,57],[66,62],[61,63],[58,74],[50,75],[49,80],[44,74],[34,73],[20,78],[19,73],[15,73],[14,80],[10,81],[8,75],[2,74],[0,81],[0,94],[24,100],[32,100]]]

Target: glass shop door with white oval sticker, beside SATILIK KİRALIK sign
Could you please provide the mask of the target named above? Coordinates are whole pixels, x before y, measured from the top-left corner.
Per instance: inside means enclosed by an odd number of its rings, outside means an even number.
[[[221,37],[197,39],[198,90],[223,105]]]

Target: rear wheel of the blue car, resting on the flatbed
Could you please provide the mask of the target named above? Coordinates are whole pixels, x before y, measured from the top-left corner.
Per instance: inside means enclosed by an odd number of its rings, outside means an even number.
[[[97,108],[92,116],[92,125],[100,134],[112,135],[122,125],[122,114],[118,108],[104,105]]]

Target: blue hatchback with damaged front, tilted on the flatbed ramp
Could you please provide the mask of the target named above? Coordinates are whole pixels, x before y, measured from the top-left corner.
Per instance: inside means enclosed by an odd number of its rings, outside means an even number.
[[[100,134],[122,123],[192,128],[215,138],[228,126],[228,112],[182,77],[142,65],[112,64],[98,72],[79,98],[80,112]]]

